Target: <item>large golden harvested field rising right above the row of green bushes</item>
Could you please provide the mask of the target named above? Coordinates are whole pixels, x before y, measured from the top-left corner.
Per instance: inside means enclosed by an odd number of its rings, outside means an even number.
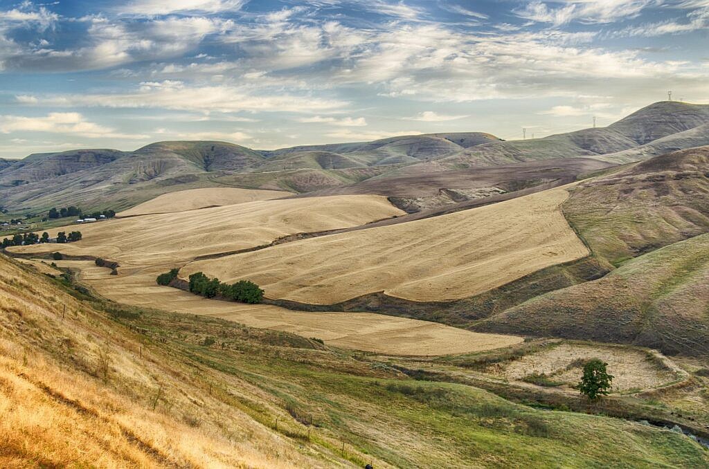
[[[305,239],[196,261],[222,281],[255,281],[269,298],[337,303],[384,291],[408,300],[466,298],[588,254],[554,188],[450,215]]]

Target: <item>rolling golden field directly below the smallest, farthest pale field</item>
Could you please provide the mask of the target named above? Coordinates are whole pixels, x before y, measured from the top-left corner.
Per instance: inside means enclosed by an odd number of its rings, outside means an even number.
[[[177,266],[197,256],[268,244],[281,236],[363,225],[403,212],[382,196],[332,196],[256,202],[143,215],[49,230],[81,230],[82,241],[34,244],[12,252],[99,256],[125,269]]]

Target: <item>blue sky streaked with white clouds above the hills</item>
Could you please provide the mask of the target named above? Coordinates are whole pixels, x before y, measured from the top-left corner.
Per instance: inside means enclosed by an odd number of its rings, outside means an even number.
[[[709,0],[0,0],[0,157],[506,140],[709,103]]]

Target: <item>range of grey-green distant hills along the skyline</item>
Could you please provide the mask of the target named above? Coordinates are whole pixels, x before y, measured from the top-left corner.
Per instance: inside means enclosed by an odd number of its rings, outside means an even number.
[[[568,158],[635,162],[708,144],[708,129],[709,106],[664,101],[606,128],[534,140],[506,142],[484,132],[452,132],[273,151],[227,142],[157,142],[135,152],[82,149],[33,154],[13,164],[0,162],[0,198],[12,210],[60,205],[122,210],[162,193],[218,186],[301,194],[345,186],[347,193],[372,193],[379,187],[383,193],[391,187],[389,179],[392,184],[406,180],[411,186],[432,174],[464,169]],[[548,182],[545,177],[525,184]],[[452,183],[458,188],[479,187],[464,180]],[[435,203],[447,203],[448,196]],[[450,202],[477,196],[453,195]],[[430,204],[421,206],[425,205]]]

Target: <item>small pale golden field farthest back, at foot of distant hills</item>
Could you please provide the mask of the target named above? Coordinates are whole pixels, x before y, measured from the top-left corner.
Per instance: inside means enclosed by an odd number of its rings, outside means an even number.
[[[255,202],[291,196],[286,191],[259,191],[235,187],[211,187],[189,189],[162,194],[152,200],[135,205],[121,213],[119,217],[148,215],[152,213],[175,213],[196,210],[197,208],[220,207],[236,203]]]

